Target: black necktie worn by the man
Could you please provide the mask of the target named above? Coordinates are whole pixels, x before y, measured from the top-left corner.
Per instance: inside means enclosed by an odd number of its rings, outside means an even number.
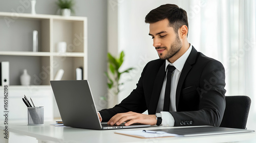
[[[167,66],[167,80],[164,92],[164,103],[163,103],[163,111],[169,111],[170,108],[170,83],[172,82],[172,74],[175,67],[168,65]]]

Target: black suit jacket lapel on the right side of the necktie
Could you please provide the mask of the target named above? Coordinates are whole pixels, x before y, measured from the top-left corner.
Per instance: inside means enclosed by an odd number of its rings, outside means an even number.
[[[189,70],[192,68],[191,65],[193,65],[196,62],[197,59],[197,50],[194,48],[194,46],[192,46],[192,50],[189,54],[189,56],[187,57],[187,60],[183,66],[183,69],[181,71],[180,74],[180,79],[177,85],[177,89],[176,89],[176,109],[178,109],[178,105],[179,105],[179,100],[180,100],[180,93],[182,90],[182,85],[183,82],[189,72]],[[178,111],[178,110],[177,110]]]

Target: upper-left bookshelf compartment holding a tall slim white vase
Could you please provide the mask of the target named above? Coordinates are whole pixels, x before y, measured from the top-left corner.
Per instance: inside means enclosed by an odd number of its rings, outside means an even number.
[[[50,19],[12,18],[13,17],[0,16],[1,51],[32,52],[33,30],[37,30],[38,51],[50,52]]]

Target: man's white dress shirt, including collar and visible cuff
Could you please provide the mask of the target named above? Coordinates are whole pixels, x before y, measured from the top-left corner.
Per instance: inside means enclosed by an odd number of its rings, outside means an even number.
[[[170,85],[170,110],[169,111],[177,111],[176,110],[176,89],[177,85],[180,79],[180,74],[182,71],[182,68],[187,60],[187,57],[189,56],[190,52],[192,50],[192,45],[190,44],[188,50],[174,63],[170,63],[168,60],[165,62],[165,71],[167,70],[168,65],[174,66],[176,69],[173,71],[173,77],[172,77],[172,83]],[[174,126],[174,117],[169,112],[163,111],[163,103],[164,103],[164,92],[165,92],[165,85],[166,85],[166,79],[167,79],[167,72],[165,74],[165,78],[162,85],[162,90],[160,93],[160,97],[158,100],[157,105],[157,113],[162,114],[162,125],[163,126]]]

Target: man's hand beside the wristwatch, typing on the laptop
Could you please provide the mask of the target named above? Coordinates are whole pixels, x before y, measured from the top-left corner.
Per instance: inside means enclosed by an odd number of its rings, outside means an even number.
[[[150,125],[156,125],[156,115],[146,115],[146,114],[140,114],[136,112],[126,112],[126,113],[118,113],[114,115],[110,121],[108,122],[108,125],[120,125],[123,122],[126,122],[125,126],[130,126],[134,123],[141,123],[141,124],[150,124]]]

